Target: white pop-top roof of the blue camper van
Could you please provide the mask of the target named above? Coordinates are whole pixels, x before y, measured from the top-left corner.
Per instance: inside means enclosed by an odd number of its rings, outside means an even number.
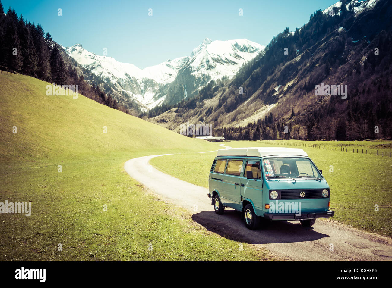
[[[250,148],[233,148],[218,150],[216,156],[278,156],[278,155],[295,155],[308,156],[308,154],[299,148],[277,148],[277,147],[250,147]]]

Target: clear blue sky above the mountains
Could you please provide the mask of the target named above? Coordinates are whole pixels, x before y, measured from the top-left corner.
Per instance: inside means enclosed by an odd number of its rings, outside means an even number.
[[[267,45],[285,27],[294,31],[338,0],[1,1],[5,11],[11,6],[18,16],[41,24],[65,47],[80,43],[98,55],[107,48],[107,56],[145,68],[190,55],[206,37]]]

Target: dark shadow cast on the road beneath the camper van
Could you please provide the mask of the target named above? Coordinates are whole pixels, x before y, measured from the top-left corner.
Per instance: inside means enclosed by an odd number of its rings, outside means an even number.
[[[304,227],[299,222],[269,221],[265,228],[249,230],[241,219],[241,212],[236,210],[225,210],[223,215],[203,211],[193,214],[192,219],[222,237],[248,244],[295,243],[330,237],[314,231],[312,227]]]

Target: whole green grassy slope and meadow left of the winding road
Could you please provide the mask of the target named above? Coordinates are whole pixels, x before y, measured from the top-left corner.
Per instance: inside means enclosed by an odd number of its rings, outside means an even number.
[[[134,157],[215,145],[82,95],[46,96],[46,85],[0,74],[0,202],[32,203],[30,217],[0,214],[2,261],[270,259],[201,228],[123,170]]]

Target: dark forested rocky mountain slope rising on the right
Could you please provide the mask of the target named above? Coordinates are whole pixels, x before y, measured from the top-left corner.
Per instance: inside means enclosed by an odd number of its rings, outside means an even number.
[[[151,121],[174,130],[204,121],[232,139],[243,139],[246,129],[246,138],[253,139],[257,127],[259,139],[388,138],[391,15],[387,0],[343,1],[319,10],[300,29],[274,37],[234,78],[165,113],[175,121]],[[343,85],[347,98],[317,95],[322,83]],[[382,130],[376,135],[375,126]]]

